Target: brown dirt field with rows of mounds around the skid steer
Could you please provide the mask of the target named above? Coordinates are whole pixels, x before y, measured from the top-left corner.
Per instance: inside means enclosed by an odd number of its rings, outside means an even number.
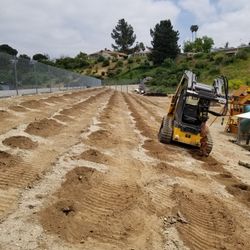
[[[0,100],[0,249],[250,249],[250,152],[221,119],[208,158],[160,144],[169,101],[108,88]]]

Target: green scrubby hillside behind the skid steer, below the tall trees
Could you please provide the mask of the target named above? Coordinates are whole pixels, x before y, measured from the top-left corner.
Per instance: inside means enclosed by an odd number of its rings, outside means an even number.
[[[167,91],[175,88],[184,70],[192,70],[198,80],[205,83],[212,83],[215,77],[225,75],[229,79],[230,88],[236,89],[241,84],[250,85],[250,49],[240,49],[236,55],[225,52],[180,55],[175,61],[166,59],[157,67],[146,57],[110,60],[106,66],[100,63],[92,65],[91,75],[106,79],[106,82],[118,83],[138,82],[150,76],[153,78],[149,83],[151,88]]]

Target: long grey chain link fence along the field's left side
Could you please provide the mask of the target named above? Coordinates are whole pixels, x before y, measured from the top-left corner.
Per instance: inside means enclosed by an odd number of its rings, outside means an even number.
[[[89,88],[101,84],[101,80],[94,77],[0,53],[0,97]]]

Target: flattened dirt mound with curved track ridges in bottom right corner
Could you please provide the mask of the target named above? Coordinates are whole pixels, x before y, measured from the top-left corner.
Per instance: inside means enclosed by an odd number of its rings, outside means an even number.
[[[187,221],[176,227],[190,249],[249,249],[249,240],[239,235],[233,216],[221,201],[178,187],[173,198],[178,202],[174,214],[180,211]]]

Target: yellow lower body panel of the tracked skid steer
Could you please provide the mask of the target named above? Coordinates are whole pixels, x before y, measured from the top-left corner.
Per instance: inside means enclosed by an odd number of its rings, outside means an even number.
[[[180,128],[174,127],[172,139],[173,141],[178,141],[178,142],[182,142],[185,144],[190,144],[193,146],[200,147],[201,136],[200,134],[195,135],[192,133],[183,132],[181,131]]]

